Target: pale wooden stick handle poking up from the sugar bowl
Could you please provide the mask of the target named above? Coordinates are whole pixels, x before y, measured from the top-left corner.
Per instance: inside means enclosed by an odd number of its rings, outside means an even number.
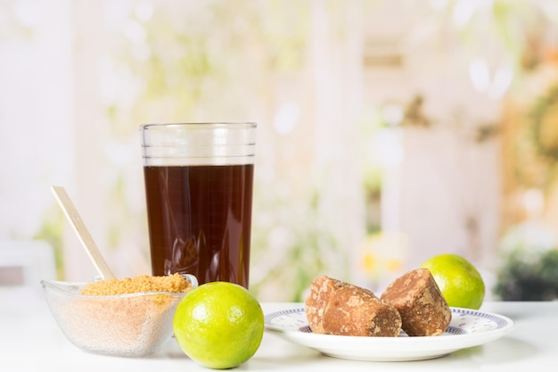
[[[89,234],[89,230],[87,230],[86,225],[79,217],[78,210],[74,206],[74,203],[71,202],[70,196],[68,196],[64,187],[52,186],[51,189],[53,190],[54,196],[56,196],[56,200],[60,203],[62,211],[64,211],[64,214],[70,220],[71,226],[78,234],[79,241],[86,249],[89,258],[93,261],[94,267],[99,271],[103,279],[113,278],[114,276],[112,275],[111,269],[109,269],[109,265],[107,265],[103,255],[97,248],[97,244],[94,243],[91,234]]]

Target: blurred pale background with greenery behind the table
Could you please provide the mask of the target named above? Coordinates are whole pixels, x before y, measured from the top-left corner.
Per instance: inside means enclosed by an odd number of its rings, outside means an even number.
[[[94,277],[60,185],[150,273],[139,125],[217,120],[258,123],[262,301],[443,252],[488,299],[557,298],[558,2],[0,0],[0,241]]]

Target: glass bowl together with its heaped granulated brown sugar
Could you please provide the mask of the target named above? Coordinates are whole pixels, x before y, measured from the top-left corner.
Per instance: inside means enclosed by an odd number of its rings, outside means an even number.
[[[43,287],[70,342],[86,351],[142,356],[172,336],[176,306],[193,285],[175,274],[81,285],[43,281]]]

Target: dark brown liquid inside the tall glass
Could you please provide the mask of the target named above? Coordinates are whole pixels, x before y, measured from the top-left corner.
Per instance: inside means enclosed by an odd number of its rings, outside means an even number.
[[[144,166],[152,275],[248,288],[254,165]]]

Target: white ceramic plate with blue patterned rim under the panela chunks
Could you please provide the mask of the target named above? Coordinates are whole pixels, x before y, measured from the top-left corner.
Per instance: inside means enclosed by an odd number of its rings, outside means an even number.
[[[347,360],[429,360],[453,351],[494,341],[513,328],[513,320],[478,310],[451,308],[452,319],[442,335],[358,337],[313,334],[303,308],[277,311],[265,317],[266,329],[291,343]]]

